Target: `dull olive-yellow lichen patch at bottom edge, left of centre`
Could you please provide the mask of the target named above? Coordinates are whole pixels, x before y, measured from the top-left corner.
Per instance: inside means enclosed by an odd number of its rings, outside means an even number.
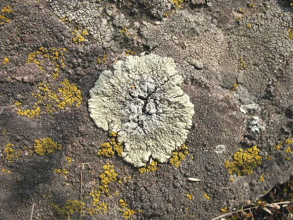
[[[61,216],[71,217],[74,213],[81,213],[82,207],[84,208],[84,202],[79,200],[67,199],[62,208],[57,204],[50,204],[51,208],[55,209]],[[71,218],[70,218],[71,219]]]

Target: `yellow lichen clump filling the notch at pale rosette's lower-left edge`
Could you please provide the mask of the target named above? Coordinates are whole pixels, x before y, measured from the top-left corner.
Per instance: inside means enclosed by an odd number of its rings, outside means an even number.
[[[98,151],[99,156],[106,156],[111,157],[114,155],[114,152],[116,152],[119,156],[121,156],[123,149],[122,149],[122,143],[119,143],[117,141],[118,134],[117,132],[110,132],[110,141],[105,142],[101,144],[100,149]]]

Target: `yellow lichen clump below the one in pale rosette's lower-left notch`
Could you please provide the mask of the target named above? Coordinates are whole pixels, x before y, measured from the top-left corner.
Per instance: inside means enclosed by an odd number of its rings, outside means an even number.
[[[110,165],[109,163],[103,166],[104,172],[99,176],[101,180],[99,189],[101,192],[108,193],[109,192],[108,184],[110,182],[117,181],[118,174],[115,173],[113,168],[114,166]]]

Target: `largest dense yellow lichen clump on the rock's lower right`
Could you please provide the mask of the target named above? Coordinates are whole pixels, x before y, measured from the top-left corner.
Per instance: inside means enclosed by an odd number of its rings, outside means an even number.
[[[262,158],[258,155],[259,149],[256,146],[243,152],[239,149],[233,156],[233,162],[225,161],[225,167],[229,174],[235,172],[237,176],[249,175],[252,169],[257,165],[261,165]]]

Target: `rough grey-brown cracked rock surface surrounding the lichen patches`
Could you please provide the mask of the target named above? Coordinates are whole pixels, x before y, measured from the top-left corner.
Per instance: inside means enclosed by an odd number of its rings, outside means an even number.
[[[293,136],[293,8],[287,1],[257,0],[254,7],[242,0],[210,1],[210,7],[186,3],[161,21],[152,19],[147,10],[138,13],[145,10],[134,0],[80,1],[81,9],[88,7],[85,3],[98,5],[89,12],[102,8],[97,19],[85,11],[82,14],[85,21],[87,16],[92,19],[88,21],[93,21],[97,35],[89,33],[80,44],[71,42],[72,32],[82,24],[81,14],[76,12],[72,22],[61,21],[62,10],[77,10],[61,2],[54,8],[45,0],[0,2],[1,10],[6,6],[13,10],[4,14],[10,21],[0,24],[0,220],[29,219],[33,203],[33,219],[66,219],[51,204],[63,207],[67,199],[81,200],[81,172],[85,220],[123,219],[120,198],[137,212],[133,219],[210,219],[220,215],[221,208],[232,210],[245,200],[260,198],[292,175],[293,158],[286,153],[290,142],[286,140]],[[66,48],[64,67],[60,64],[56,79],[51,77],[56,62],[49,58],[36,58],[43,71],[36,63],[25,62],[39,47]],[[97,156],[99,146],[108,141],[107,132],[91,120],[86,100],[101,72],[112,68],[115,60],[125,59],[126,53],[172,58],[187,83],[181,88],[195,113],[186,140],[189,154],[179,167],[160,163],[156,172],[142,175],[117,155]],[[79,107],[73,103],[48,114],[46,107],[52,106],[47,97],[41,116],[17,114],[18,109],[33,108],[38,102],[33,92],[44,96],[36,88],[39,83],[57,90],[65,79],[80,89]],[[238,86],[230,92],[235,83]],[[54,94],[60,97],[58,90]],[[21,107],[15,102],[21,102]],[[257,108],[244,114],[240,106],[245,105]],[[253,117],[265,129],[251,133]],[[62,144],[62,150],[39,156],[29,148],[45,137]],[[20,152],[12,163],[6,159],[6,143]],[[220,153],[219,145],[226,150]],[[230,175],[225,161],[231,162],[240,148],[254,145],[260,149],[262,164],[248,176]],[[71,163],[66,157],[72,158]],[[107,162],[114,165],[121,183],[110,182],[110,196],[100,197],[108,211],[91,216],[86,209],[92,209],[89,194],[101,184],[99,176]],[[68,174],[58,175],[55,169],[66,169]],[[260,181],[262,175],[264,181]],[[204,181],[189,182],[188,177]],[[79,213],[71,219],[78,220]]]

